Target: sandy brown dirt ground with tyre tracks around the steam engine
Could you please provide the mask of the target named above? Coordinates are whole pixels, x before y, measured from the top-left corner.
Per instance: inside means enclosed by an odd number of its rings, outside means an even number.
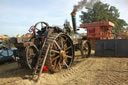
[[[128,58],[75,58],[67,70],[41,74],[36,83],[16,62],[0,65],[0,85],[128,85]]]

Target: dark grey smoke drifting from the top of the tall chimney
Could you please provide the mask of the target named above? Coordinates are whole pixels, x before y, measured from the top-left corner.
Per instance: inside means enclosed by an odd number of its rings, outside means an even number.
[[[92,8],[94,3],[98,2],[100,0],[81,0],[80,2],[78,2],[78,5],[74,5],[74,9],[73,12],[77,12],[79,10],[81,10],[83,7],[86,8]]]

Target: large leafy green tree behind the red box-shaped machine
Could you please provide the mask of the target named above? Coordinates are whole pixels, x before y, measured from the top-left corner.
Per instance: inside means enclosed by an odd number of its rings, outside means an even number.
[[[81,13],[80,18],[82,23],[111,21],[115,24],[115,32],[127,25],[125,20],[119,18],[120,13],[116,7],[102,2],[95,3],[92,8],[87,9],[87,12],[82,11]]]

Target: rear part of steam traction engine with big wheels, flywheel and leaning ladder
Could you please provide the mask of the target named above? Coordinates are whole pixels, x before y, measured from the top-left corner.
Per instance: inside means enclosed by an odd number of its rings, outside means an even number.
[[[39,28],[40,27],[40,28]],[[38,22],[29,30],[32,36],[27,41],[15,39],[18,63],[29,68],[34,74],[41,73],[45,65],[50,72],[58,72],[72,65],[74,47],[71,38],[59,27],[50,27]]]

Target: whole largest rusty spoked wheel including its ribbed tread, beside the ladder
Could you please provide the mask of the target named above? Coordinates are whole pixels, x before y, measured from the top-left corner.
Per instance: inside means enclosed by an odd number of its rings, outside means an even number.
[[[45,47],[50,44],[46,66],[51,72],[58,72],[68,68],[74,60],[74,48],[72,40],[66,34],[53,33],[46,41]]]

